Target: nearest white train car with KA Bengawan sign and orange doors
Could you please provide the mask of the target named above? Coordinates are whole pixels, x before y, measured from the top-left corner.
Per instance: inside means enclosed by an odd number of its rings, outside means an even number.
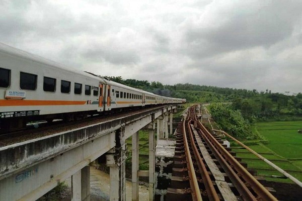
[[[1,129],[24,127],[38,116],[50,121],[55,114],[68,114],[64,118],[72,120],[87,111],[102,112],[104,86],[93,75],[0,43]]]

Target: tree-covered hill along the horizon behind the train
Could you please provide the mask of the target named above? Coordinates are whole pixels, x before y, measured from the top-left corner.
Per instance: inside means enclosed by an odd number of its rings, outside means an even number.
[[[121,76],[110,80],[150,91],[159,95],[186,98],[190,103],[231,102],[234,110],[239,110],[245,119],[269,119],[302,117],[302,94],[285,95],[270,90],[258,92],[256,89],[233,89],[197,84],[163,85],[161,82],[123,79]]]

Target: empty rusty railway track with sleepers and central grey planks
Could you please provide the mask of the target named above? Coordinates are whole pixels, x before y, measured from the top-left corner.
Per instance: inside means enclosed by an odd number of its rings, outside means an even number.
[[[198,120],[196,106],[177,128],[167,200],[277,200]]]

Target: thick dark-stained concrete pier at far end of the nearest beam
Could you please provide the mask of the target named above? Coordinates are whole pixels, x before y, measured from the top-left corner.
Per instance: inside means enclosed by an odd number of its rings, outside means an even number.
[[[110,201],[126,200],[126,145],[124,128],[116,131],[116,147],[106,154],[106,164],[110,167]]]

